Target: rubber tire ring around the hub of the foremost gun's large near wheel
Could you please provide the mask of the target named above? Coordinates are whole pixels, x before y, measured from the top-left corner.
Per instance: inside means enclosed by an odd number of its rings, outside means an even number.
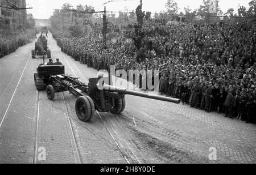
[[[84,108],[86,109],[84,115],[82,115],[80,112],[80,109],[79,109],[80,104],[83,104]],[[90,101],[85,96],[81,96],[76,99],[75,109],[76,109],[76,116],[83,122],[88,122],[92,117],[92,109],[90,107]]]

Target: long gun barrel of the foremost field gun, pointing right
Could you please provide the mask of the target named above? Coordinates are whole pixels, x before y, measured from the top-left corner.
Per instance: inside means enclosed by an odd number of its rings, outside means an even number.
[[[159,95],[152,95],[152,94],[149,94],[149,93],[131,91],[129,89],[109,86],[107,84],[104,84],[103,87],[104,87],[105,91],[109,91],[109,92],[118,92],[118,93],[123,93],[125,95],[139,96],[139,97],[144,97],[144,98],[147,98],[147,99],[167,101],[167,102],[176,103],[176,104],[180,103],[179,99],[173,99],[173,98],[163,97],[163,96],[159,96]]]

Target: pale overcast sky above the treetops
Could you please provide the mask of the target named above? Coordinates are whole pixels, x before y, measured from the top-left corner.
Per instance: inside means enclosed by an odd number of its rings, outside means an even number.
[[[91,5],[95,10],[104,10],[104,3],[112,0],[26,0],[27,7],[33,7],[28,12],[34,15],[34,18],[48,19],[53,12],[53,9],[59,9],[64,3],[70,3],[74,8],[76,5]],[[249,7],[248,3],[251,0],[220,0],[218,5],[223,12],[228,8],[237,10],[238,5]],[[167,0],[143,0],[143,11],[159,12],[164,10],[164,5]],[[203,0],[176,0],[180,11],[184,7],[189,6],[192,9],[199,8]],[[117,2],[107,3],[105,6],[109,11],[124,11],[127,8],[129,11],[134,10],[139,5],[139,0],[117,0]]]

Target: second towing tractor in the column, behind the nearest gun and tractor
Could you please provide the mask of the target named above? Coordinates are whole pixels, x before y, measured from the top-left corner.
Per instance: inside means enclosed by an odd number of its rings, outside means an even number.
[[[46,36],[40,35],[35,42],[35,49],[31,50],[32,58],[36,58],[36,56],[47,56],[47,58],[51,58],[51,50],[48,49],[47,42]]]

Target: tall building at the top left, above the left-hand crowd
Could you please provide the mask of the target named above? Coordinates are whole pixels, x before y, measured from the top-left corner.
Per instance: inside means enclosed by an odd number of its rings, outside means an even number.
[[[26,0],[0,0],[0,5],[10,7],[15,2],[17,7],[26,8]],[[12,10],[0,7],[0,17],[9,19],[10,25],[14,29],[23,28],[26,25],[27,10]]]

